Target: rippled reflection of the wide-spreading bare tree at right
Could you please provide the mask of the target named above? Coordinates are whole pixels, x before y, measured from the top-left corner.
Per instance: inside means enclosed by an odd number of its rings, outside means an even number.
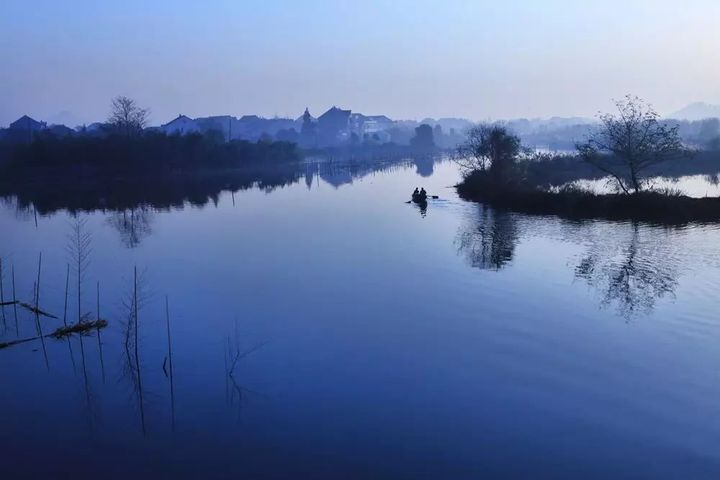
[[[673,295],[678,267],[667,252],[664,235],[645,232],[637,223],[628,226],[629,236],[619,235],[614,225],[612,236],[593,242],[575,267],[575,276],[596,288],[602,305],[614,305],[625,318],[650,313],[655,302]]]

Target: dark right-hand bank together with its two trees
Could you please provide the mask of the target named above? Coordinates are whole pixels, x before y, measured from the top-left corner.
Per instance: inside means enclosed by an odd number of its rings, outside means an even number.
[[[464,170],[458,193],[500,208],[574,219],[720,221],[720,198],[651,188],[651,176],[661,175],[668,165],[672,170],[694,154],[680,141],[677,127],[661,122],[638,98],[628,96],[616,105],[618,113],[600,116],[600,127],[577,145],[575,157],[540,156],[537,161],[502,125],[476,127],[458,152]],[[555,170],[560,170],[556,177],[565,180],[577,180],[572,177],[578,172],[608,177],[619,193],[596,194],[572,186],[550,191],[547,184]]]

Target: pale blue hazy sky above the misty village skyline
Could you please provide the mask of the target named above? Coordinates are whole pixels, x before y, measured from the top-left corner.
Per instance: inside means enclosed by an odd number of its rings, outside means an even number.
[[[0,125],[152,110],[592,116],[720,103],[719,0],[0,2]]]

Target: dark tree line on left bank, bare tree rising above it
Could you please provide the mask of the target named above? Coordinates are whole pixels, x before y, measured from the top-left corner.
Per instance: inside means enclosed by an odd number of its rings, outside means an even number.
[[[146,130],[148,110],[127,97],[112,100],[101,135],[36,134],[26,143],[0,146],[5,178],[11,174],[103,176],[158,174],[294,162],[295,144],[283,141],[226,142],[219,132],[167,135]],[[20,177],[17,177],[20,178]]]

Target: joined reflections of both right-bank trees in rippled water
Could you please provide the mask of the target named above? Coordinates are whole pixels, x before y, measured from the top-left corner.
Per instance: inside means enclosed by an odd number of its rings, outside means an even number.
[[[518,216],[480,204],[460,227],[455,245],[473,268],[499,271],[513,261],[520,237],[548,231],[583,246],[574,276],[597,292],[601,307],[630,319],[674,297],[682,255],[672,232],[656,226]]]

